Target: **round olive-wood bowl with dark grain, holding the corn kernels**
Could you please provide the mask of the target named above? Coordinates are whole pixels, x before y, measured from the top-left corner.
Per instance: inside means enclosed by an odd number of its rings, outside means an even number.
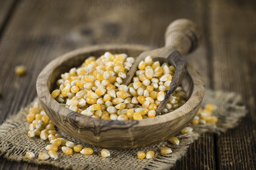
[[[92,118],[61,106],[50,94],[61,73],[81,65],[87,57],[99,57],[106,51],[136,57],[149,49],[142,45],[95,45],[54,59],[43,69],[43,76],[38,77],[36,84],[38,98],[49,119],[69,136],[113,149],[144,147],[179,133],[192,121],[204,96],[204,83],[200,77],[189,74],[190,67],[181,84],[188,96],[187,102],[175,111],[150,119],[113,121]]]

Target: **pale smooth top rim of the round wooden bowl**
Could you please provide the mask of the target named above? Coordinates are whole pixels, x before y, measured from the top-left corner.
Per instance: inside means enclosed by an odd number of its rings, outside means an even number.
[[[146,51],[146,50],[150,50],[152,49],[149,46],[146,45],[137,45],[137,44],[123,44],[123,45],[93,45],[93,46],[87,46],[84,48],[78,48],[76,50],[67,52],[59,57],[56,57],[55,59],[53,59],[51,62],[49,62],[42,70],[42,73],[46,73],[47,70],[54,70],[58,65],[53,65],[55,63],[58,63],[60,61],[67,61],[68,59],[71,59],[72,57],[78,56],[78,55],[82,55],[85,53],[90,53],[90,52],[94,52],[94,51],[110,51],[111,49],[113,50],[138,50],[138,51]],[[159,115],[156,116],[154,118],[149,118],[149,119],[142,119],[142,120],[127,120],[127,121],[117,121],[117,120],[106,120],[106,119],[99,119],[99,118],[93,118],[90,116],[84,116],[81,115],[77,112],[71,111],[69,108],[66,108],[65,106],[60,105],[60,103],[58,103],[50,94],[49,89],[47,87],[48,84],[48,79],[49,79],[49,74],[42,74],[41,77],[38,77],[37,82],[36,82],[36,90],[37,90],[37,94],[38,94],[38,98],[40,99],[41,102],[43,102],[43,105],[46,105],[47,107],[49,107],[51,110],[54,110],[54,108],[52,108],[52,106],[54,106],[58,109],[58,114],[61,114],[62,116],[67,116],[68,114],[77,114],[76,116],[79,116],[79,119],[76,119],[76,122],[79,125],[83,125],[86,122],[86,126],[88,127],[95,127],[95,122],[99,122],[97,123],[97,125],[102,126],[102,127],[113,127],[113,128],[118,128],[118,127],[141,127],[141,126],[148,126],[148,125],[156,125],[156,124],[160,124],[160,123],[166,123],[166,122],[170,122],[174,119],[177,119],[181,116],[184,116],[186,114],[189,114],[190,111],[192,111],[193,109],[195,109],[195,107],[197,107],[200,102],[203,99],[204,96],[204,82],[201,79],[201,77],[199,77],[198,74],[196,74],[196,76],[191,76],[191,74],[189,74],[189,70],[192,69],[189,65],[187,67],[188,72],[187,75],[189,75],[192,79],[193,82],[193,89],[192,89],[192,94],[189,97],[189,99],[186,101],[186,103],[184,105],[188,105],[192,107],[189,108],[185,108],[185,111],[179,111],[179,109],[176,109],[175,111],[166,113],[164,115]],[[41,75],[41,74],[40,74]],[[43,94],[42,92],[45,92],[46,94]],[[193,96],[199,96],[199,97],[194,97]],[[51,105],[47,105],[46,101],[47,98],[51,98],[51,101],[53,102]],[[184,106],[183,105],[183,106]],[[182,108],[183,106],[181,106],[180,108]],[[56,113],[56,111],[55,111]],[[51,117],[49,117],[51,119]],[[120,123],[120,122],[125,122],[125,123]]]

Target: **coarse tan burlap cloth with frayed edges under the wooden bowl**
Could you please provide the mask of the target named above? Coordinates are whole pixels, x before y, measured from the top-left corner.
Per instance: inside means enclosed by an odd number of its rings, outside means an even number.
[[[65,155],[62,151],[58,151],[58,160],[48,159],[46,161],[38,161],[37,156],[40,152],[46,152],[44,147],[49,144],[49,141],[43,141],[38,137],[29,138],[27,136],[29,123],[26,122],[26,111],[19,112],[15,116],[10,116],[0,126],[0,156],[12,161],[28,161],[35,164],[50,164],[63,169],[93,169],[93,170],[130,170],[130,169],[170,169],[175,166],[175,162],[182,156],[186,155],[189,144],[198,139],[202,133],[212,131],[215,133],[225,132],[227,129],[235,127],[241,117],[245,116],[245,106],[241,105],[241,97],[235,93],[223,91],[207,90],[204,96],[203,105],[213,103],[218,108],[213,115],[218,117],[218,123],[206,125],[189,125],[193,127],[193,132],[181,135],[177,134],[180,139],[179,146],[170,144],[170,142],[162,142],[149,147],[131,150],[110,150],[111,156],[107,159],[100,156],[101,148],[79,142],[72,139],[60,130],[58,132],[66,139],[82,144],[83,147],[91,147],[94,150],[93,155],[85,156],[80,153],[74,153],[70,156]],[[169,155],[160,154],[161,147],[166,146],[172,148],[173,152]],[[153,159],[138,159],[137,151],[144,152],[154,150],[155,156]],[[36,158],[29,160],[25,158],[25,153],[32,151]]]

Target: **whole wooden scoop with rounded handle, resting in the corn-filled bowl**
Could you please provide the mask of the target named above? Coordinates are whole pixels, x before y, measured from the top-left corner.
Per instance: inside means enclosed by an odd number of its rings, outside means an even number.
[[[131,83],[139,63],[147,56],[151,56],[154,61],[171,62],[176,67],[175,74],[164,100],[157,107],[156,115],[165,107],[177,86],[180,85],[183,75],[186,73],[186,59],[181,57],[180,54],[189,54],[195,50],[198,45],[196,33],[197,26],[192,21],[187,19],[173,21],[166,29],[165,46],[141,53],[128,71],[127,77],[122,82],[123,85],[127,86]]]

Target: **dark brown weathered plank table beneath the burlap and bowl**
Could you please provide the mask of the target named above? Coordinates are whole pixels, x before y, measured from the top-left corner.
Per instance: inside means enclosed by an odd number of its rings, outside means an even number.
[[[199,48],[187,61],[206,88],[237,92],[249,112],[221,136],[205,133],[175,169],[256,168],[256,1],[0,0],[0,5],[1,123],[34,99],[36,78],[55,57],[104,43],[161,47],[166,26],[184,17],[201,30]],[[16,65],[26,65],[29,75],[15,77]],[[0,169],[55,167],[1,157]]]

